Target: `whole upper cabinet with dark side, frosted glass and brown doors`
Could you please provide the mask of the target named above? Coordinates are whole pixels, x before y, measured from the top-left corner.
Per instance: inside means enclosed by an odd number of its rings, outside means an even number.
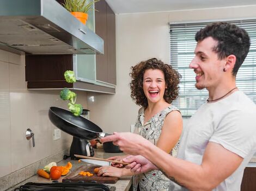
[[[58,1],[62,3],[62,0]],[[99,5],[97,5],[99,4]],[[115,93],[115,15],[105,0],[95,3],[95,28],[104,40],[103,55],[26,55],[26,81],[29,89],[74,88]],[[93,16],[90,16],[93,18]],[[64,72],[75,71],[77,82],[66,83]]]

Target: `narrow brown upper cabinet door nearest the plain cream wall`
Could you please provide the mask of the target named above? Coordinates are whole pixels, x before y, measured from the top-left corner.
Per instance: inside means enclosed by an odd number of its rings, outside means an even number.
[[[117,84],[115,70],[115,14],[107,4],[107,63],[108,83]]]

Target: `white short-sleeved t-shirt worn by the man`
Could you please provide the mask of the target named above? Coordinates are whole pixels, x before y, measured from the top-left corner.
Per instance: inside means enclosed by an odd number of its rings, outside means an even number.
[[[239,191],[243,170],[256,152],[256,105],[243,92],[203,104],[188,121],[177,157],[200,165],[209,142],[243,158],[239,168],[213,190]],[[171,182],[169,190],[187,189]]]

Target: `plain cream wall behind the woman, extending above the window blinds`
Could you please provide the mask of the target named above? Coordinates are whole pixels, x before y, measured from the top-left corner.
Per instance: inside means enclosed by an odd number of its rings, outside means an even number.
[[[88,99],[91,119],[109,133],[130,131],[138,110],[130,97],[130,67],[153,57],[169,62],[169,22],[256,17],[255,9],[256,5],[116,15],[117,93],[89,93],[88,98],[94,96],[94,102]]]

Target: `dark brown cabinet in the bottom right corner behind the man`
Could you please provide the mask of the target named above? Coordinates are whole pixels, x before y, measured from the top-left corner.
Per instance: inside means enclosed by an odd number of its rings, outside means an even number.
[[[256,167],[246,167],[243,173],[241,191],[256,190]]]

